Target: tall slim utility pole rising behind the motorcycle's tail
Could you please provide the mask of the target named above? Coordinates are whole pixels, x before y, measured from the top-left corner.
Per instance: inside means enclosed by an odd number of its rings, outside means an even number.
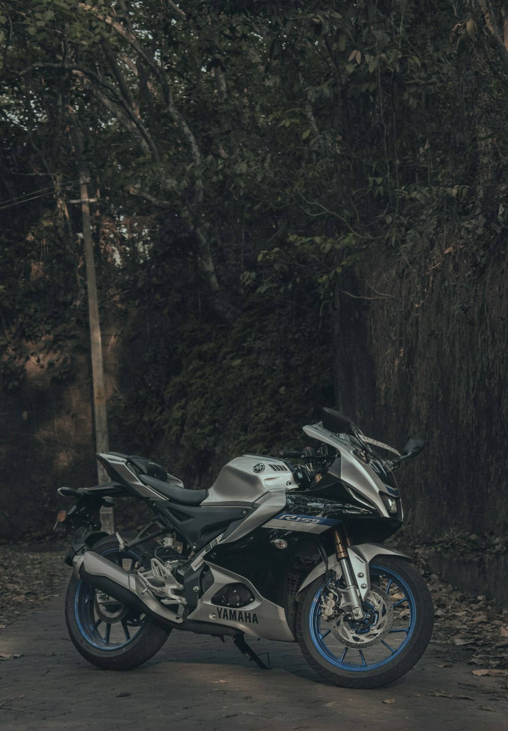
[[[94,421],[95,442],[97,452],[107,452],[109,443],[107,438],[106,393],[104,383],[104,366],[102,360],[102,338],[99,321],[99,300],[97,298],[97,284],[95,278],[94,241],[91,235],[90,198],[88,197],[88,183],[90,173],[83,161],[83,141],[80,129],[77,126],[74,110],[69,107],[72,124],[70,131],[74,146],[77,168],[80,176],[80,202],[83,219],[83,243],[86,265],[86,289],[88,293],[88,322],[90,325],[91,372],[94,388]],[[78,202],[78,201],[76,201]],[[97,480],[99,485],[108,481],[104,467],[97,463]],[[115,521],[112,507],[102,507],[100,510],[102,529],[107,533],[115,532]]]

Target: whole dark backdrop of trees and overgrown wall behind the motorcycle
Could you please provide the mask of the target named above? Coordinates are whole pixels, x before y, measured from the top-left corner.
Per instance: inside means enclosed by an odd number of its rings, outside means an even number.
[[[335,403],[427,439],[415,531],[504,531],[505,11],[2,5],[0,539],[96,474],[83,179],[111,449],[205,487]]]

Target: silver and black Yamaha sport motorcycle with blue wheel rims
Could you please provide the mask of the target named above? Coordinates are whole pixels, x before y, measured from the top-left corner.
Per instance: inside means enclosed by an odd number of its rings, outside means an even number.
[[[404,553],[383,544],[403,520],[402,454],[334,409],[303,427],[319,446],[246,454],[208,490],[186,489],[148,458],[96,455],[110,482],[59,488],[75,505],[55,529],[75,534],[65,617],[77,651],[107,670],[147,662],[173,630],[297,642],[330,683],[375,688],[420,659],[431,594]],[[390,452],[382,458],[380,450]],[[137,536],[100,530],[99,508],[135,498],[153,512]]]

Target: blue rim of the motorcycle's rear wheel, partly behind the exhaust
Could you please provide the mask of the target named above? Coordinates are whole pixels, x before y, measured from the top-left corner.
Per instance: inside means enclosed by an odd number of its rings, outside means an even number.
[[[110,548],[103,551],[101,556],[109,556],[113,561],[132,570],[134,564],[139,561],[139,556],[132,550],[121,551],[118,548]],[[120,605],[120,602],[118,602]],[[74,599],[74,612],[77,628],[89,645],[104,651],[120,650],[132,643],[145,626],[146,615],[140,616],[134,610],[129,610],[120,621],[107,622],[96,612],[95,589],[84,581],[79,581],[76,587]]]

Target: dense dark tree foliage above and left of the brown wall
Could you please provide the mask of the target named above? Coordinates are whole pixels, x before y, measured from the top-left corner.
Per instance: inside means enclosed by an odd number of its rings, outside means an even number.
[[[26,357],[75,373],[76,122],[102,313],[124,332],[118,439],[166,440],[181,465],[199,452],[196,480],[219,452],[291,439],[333,401],[328,304],[344,273],[371,247],[409,262],[424,234],[478,216],[484,152],[507,153],[503,57],[479,12],[458,13],[0,2],[4,387]]]

